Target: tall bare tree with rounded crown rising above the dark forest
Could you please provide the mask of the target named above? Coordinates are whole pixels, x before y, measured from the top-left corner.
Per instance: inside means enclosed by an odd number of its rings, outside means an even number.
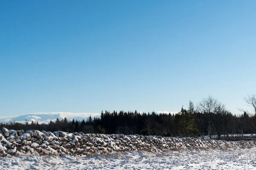
[[[211,132],[211,114],[215,114],[218,111],[221,111],[225,108],[225,106],[219,102],[217,99],[213,98],[212,96],[208,96],[207,98],[203,98],[197,105],[197,110],[201,113],[205,113],[207,115],[207,122],[208,122],[208,134],[210,139],[212,139],[212,132]]]

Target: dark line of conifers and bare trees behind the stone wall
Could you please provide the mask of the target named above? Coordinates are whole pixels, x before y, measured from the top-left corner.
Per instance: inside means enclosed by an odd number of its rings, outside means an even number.
[[[213,134],[220,139],[221,134],[227,136],[233,134],[256,133],[256,95],[248,95],[245,102],[253,108],[253,113],[243,111],[236,115],[227,110],[225,105],[212,96],[202,99],[194,106],[189,101],[189,108],[181,108],[179,113],[139,113],[137,111],[105,111],[100,117],[91,116],[82,121],[67,118],[56,119],[48,124],[38,122],[9,122],[0,123],[0,128],[6,127],[14,130],[47,130],[83,133],[118,133],[118,134],[142,134],[160,136],[189,136],[204,138]]]

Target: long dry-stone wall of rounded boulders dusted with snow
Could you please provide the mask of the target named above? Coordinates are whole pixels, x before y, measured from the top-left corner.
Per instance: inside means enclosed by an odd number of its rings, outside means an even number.
[[[220,141],[196,138],[123,134],[84,134],[62,131],[0,130],[0,156],[99,155],[128,150],[163,152],[206,148],[253,147],[256,141]]]

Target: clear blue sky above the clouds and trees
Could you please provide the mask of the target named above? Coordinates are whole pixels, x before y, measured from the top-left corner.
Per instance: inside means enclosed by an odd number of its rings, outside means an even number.
[[[256,93],[255,0],[0,1],[0,116],[180,111]]]

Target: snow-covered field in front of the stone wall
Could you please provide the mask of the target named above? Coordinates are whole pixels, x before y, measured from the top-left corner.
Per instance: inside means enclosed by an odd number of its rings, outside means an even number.
[[[256,169],[256,147],[229,150],[189,150],[166,153],[114,153],[108,156],[28,156],[0,158],[1,170],[247,170]]]

